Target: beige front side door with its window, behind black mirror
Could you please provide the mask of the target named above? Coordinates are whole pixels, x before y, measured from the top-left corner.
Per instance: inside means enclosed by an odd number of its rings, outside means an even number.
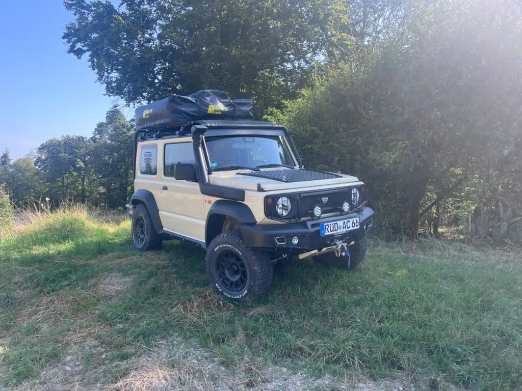
[[[177,163],[195,163],[192,142],[165,143],[162,152],[162,190],[157,201],[163,229],[205,241],[205,211],[199,184],[174,179]]]

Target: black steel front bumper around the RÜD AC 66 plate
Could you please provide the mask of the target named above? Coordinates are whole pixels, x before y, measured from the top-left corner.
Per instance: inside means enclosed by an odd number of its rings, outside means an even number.
[[[321,250],[335,245],[335,240],[361,240],[373,228],[375,212],[369,207],[363,207],[359,213],[350,213],[318,220],[305,221],[293,224],[251,225],[240,226],[243,241],[247,247],[274,251],[281,254],[300,254],[306,251]],[[321,236],[321,223],[339,221],[345,218],[359,216],[360,228],[347,233]],[[297,236],[299,241],[292,244],[292,238]]]

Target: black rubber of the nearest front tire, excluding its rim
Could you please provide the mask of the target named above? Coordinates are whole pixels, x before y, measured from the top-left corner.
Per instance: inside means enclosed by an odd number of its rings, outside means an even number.
[[[251,283],[250,287],[248,288],[247,294],[242,298],[232,300],[241,302],[254,302],[264,298],[270,291],[270,287],[272,286],[272,279],[274,278],[274,272],[272,271],[272,262],[270,261],[270,257],[267,253],[263,251],[252,250],[246,247],[243,242],[243,237],[241,236],[241,233],[237,230],[227,231],[216,236],[210,242],[210,245],[207,247],[207,274],[210,278],[212,287],[214,288],[214,290],[216,290],[218,294],[222,295],[222,292],[219,291],[219,289],[215,285],[215,282],[212,280],[212,274],[210,272],[211,265],[209,254],[211,254],[212,250],[215,249],[217,246],[227,242],[238,247],[238,249],[243,253],[246,262],[251,263],[254,274],[253,276],[251,276]]]

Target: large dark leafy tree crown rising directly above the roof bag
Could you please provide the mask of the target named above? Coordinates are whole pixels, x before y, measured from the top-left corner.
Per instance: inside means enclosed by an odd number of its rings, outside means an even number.
[[[68,52],[88,55],[110,96],[153,101],[202,88],[253,97],[259,112],[294,96],[311,64],[346,56],[341,0],[65,0]]]

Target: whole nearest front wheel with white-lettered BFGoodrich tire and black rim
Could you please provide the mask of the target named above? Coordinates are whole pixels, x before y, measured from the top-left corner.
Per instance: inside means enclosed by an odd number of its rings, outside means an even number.
[[[267,253],[245,247],[238,231],[218,235],[207,248],[207,273],[216,291],[233,300],[252,302],[265,297],[272,285]]]

